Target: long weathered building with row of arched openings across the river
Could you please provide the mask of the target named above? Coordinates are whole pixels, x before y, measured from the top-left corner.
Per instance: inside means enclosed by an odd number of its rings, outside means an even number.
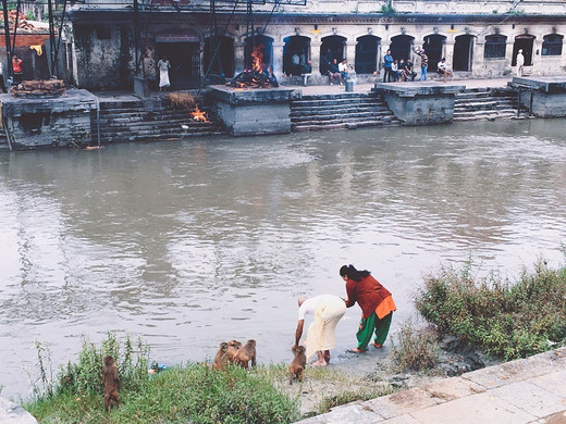
[[[312,63],[313,84],[328,84],[329,62],[345,59],[358,80],[382,72],[383,55],[413,59],[422,48],[429,73],[446,58],[458,78],[564,75],[566,2],[530,0],[104,0],[67,8],[61,76],[87,89],[155,87],[157,62],[171,62],[173,89],[218,84],[262,65],[280,84]]]

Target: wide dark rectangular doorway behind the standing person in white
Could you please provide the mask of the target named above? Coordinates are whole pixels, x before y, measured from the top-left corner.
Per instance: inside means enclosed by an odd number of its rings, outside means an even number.
[[[164,55],[171,63],[171,90],[200,87],[200,48],[198,42],[157,42],[156,65]],[[159,71],[157,71],[159,75]]]

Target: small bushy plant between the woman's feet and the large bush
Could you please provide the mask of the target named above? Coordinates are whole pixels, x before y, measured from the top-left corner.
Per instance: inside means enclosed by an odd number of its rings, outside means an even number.
[[[413,322],[407,321],[401,326],[396,336],[397,342],[393,342],[391,353],[397,371],[423,372],[436,365],[440,347],[436,334],[431,328],[417,331]]]

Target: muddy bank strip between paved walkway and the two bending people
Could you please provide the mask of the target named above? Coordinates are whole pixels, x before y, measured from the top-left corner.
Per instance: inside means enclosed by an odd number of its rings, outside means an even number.
[[[325,370],[307,365],[303,383],[290,385],[286,379],[278,384],[290,396],[299,399],[300,414],[308,417],[327,412],[320,408],[329,403],[334,406],[333,402],[343,399],[349,400],[341,403],[361,396],[367,400],[502,363],[455,337],[444,337],[439,345],[439,362],[427,372],[396,371],[391,344],[386,344],[382,349],[370,346],[367,352],[359,354],[335,353]]]

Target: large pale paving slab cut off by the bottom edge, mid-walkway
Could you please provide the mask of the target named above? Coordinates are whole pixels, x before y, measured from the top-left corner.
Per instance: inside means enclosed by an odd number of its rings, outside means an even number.
[[[527,424],[537,420],[537,416],[489,392],[415,411],[411,416],[419,422],[434,424]]]

